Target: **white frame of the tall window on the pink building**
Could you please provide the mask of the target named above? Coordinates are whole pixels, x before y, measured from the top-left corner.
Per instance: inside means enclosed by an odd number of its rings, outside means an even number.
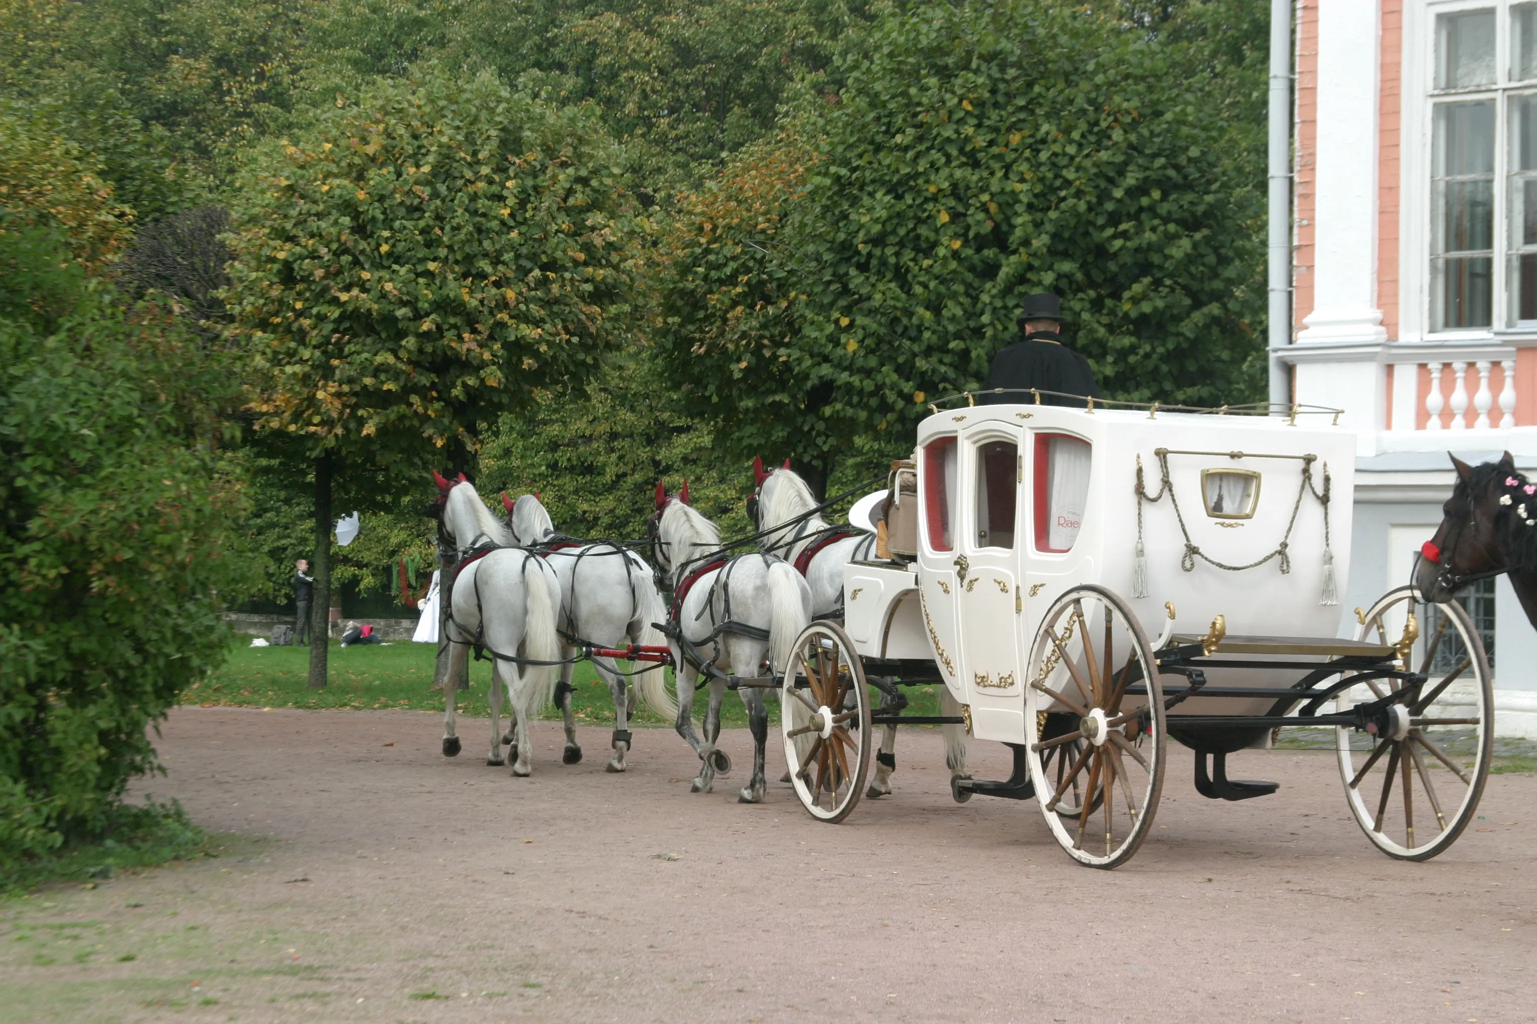
[[[1511,8],[1528,0],[1446,0],[1405,5],[1402,124],[1399,140],[1399,341],[1488,341],[1537,338],[1537,321],[1512,322],[1509,292],[1509,107],[1511,97],[1537,95],[1537,80],[1511,81]],[[1436,89],[1436,18],[1494,9],[1492,86]],[[1431,330],[1431,172],[1436,104],[1443,100],[1494,100],[1494,267],[1489,327]]]

